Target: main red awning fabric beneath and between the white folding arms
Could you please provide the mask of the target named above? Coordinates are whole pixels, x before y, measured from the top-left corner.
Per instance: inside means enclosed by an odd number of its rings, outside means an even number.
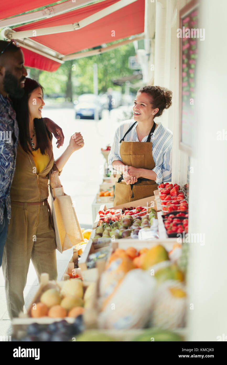
[[[52,18],[16,27],[14,30],[35,30],[38,28],[60,27],[66,24],[73,24],[117,2],[118,0],[101,1],[100,3],[79,8]],[[34,8],[33,1],[32,7]],[[144,11],[145,0],[137,0],[79,30],[42,35],[30,39],[62,55],[69,55],[84,49],[99,46],[102,43],[111,43],[144,32]],[[115,32],[115,37],[113,37],[113,31]],[[60,66],[58,62],[52,61],[42,55],[34,54],[32,51],[26,50],[24,56],[26,66],[48,71],[54,71]]]

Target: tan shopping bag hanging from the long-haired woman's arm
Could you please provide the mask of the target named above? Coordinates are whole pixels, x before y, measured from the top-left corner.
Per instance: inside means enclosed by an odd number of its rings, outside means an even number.
[[[73,202],[69,195],[64,194],[63,188],[51,189],[49,204],[54,222],[57,250],[65,250],[84,241]]]

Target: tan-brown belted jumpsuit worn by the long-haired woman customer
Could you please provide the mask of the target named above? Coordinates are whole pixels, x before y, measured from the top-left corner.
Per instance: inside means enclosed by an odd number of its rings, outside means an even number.
[[[58,170],[49,138],[48,142],[49,162],[39,174],[35,172],[32,155],[27,154],[19,143],[17,147],[16,170],[10,190],[11,220],[2,263],[7,308],[11,319],[23,311],[23,291],[30,259],[39,281],[40,274],[44,272],[49,274],[51,280],[57,278],[55,233],[48,206],[27,204],[42,202],[48,197],[49,172]]]

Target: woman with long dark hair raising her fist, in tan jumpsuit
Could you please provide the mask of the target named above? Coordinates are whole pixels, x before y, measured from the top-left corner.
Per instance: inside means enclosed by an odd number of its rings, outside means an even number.
[[[45,272],[57,278],[55,233],[48,209],[48,178],[59,174],[70,155],[83,147],[83,137],[75,133],[63,154],[54,161],[52,134],[42,119],[43,88],[26,78],[24,96],[13,99],[19,126],[16,170],[11,186],[11,221],[3,253],[3,273],[10,318],[23,311],[23,290],[30,259],[38,279]]]

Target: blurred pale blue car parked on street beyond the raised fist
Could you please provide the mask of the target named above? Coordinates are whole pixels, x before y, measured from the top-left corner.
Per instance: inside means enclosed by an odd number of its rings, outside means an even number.
[[[98,118],[102,118],[103,105],[99,96],[94,94],[83,94],[74,101],[75,118],[95,119],[95,110]]]

